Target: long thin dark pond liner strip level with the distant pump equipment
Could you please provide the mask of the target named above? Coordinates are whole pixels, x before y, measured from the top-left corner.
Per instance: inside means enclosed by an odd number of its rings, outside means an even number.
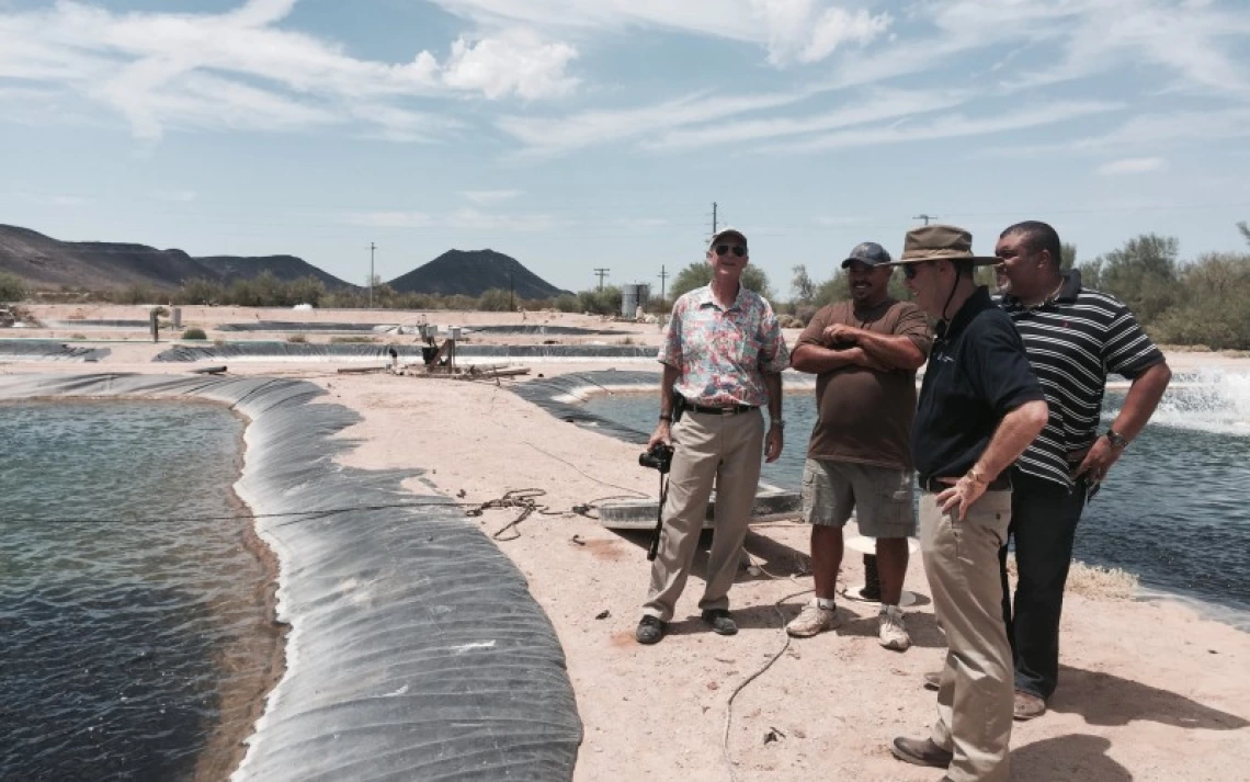
[[[419,359],[421,343],[394,345],[401,359]],[[221,345],[175,345],[159,353],[154,362],[202,360],[389,360],[391,345],[312,344],[288,342],[241,342]],[[659,348],[648,345],[456,345],[458,359],[654,359]]]

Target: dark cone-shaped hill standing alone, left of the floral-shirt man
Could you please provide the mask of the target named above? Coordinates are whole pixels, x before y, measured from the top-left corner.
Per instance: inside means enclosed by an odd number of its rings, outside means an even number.
[[[491,288],[515,290],[522,299],[550,299],[568,293],[495,250],[448,250],[430,263],[388,283],[399,293],[462,293],[480,297]]]

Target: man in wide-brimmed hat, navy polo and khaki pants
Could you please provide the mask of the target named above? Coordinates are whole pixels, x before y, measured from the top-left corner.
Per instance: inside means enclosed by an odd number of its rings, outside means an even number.
[[[1011,648],[999,549],[1011,522],[1005,475],[1046,425],[1046,400],[1011,319],[972,279],[998,263],[951,225],[908,231],[901,265],[916,304],[938,319],[911,449],[920,548],[949,651],[928,738],[895,738],[899,759],[945,768],[944,782],[1006,782]]]

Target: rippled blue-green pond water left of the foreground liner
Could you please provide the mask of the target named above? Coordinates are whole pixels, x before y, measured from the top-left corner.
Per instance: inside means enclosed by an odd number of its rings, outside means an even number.
[[[229,773],[280,653],[229,518],[241,433],[206,404],[0,405],[0,779]]]

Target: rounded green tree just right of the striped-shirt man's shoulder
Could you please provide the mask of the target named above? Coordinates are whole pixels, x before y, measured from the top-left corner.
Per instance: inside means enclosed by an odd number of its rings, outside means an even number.
[[[1176,258],[1172,236],[1142,234],[1101,258],[1099,284],[1129,305],[1142,323],[1150,323],[1178,298]]]

